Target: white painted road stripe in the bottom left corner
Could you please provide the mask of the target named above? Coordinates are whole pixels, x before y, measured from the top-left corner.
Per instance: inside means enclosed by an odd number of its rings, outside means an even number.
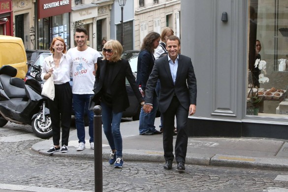
[[[16,190],[24,192],[92,192],[92,191],[81,191],[81,190],[67,190],[59,188],[45,188],[25,185],[11,185],[11,184],[0,184],[2,190]]]

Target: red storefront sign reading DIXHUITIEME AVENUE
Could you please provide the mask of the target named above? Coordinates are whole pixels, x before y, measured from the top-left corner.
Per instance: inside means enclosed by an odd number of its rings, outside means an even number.
[[[38,19],[71,12],[71,0],[37,0]]]

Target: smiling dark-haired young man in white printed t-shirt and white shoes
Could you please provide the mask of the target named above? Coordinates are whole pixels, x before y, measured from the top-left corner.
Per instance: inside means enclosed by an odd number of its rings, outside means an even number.
[[[95,49],[87,46],[87,39],[87,30],[81,27],[76,28],[74,40],[77,43],[77,47],[71,48],[67,52],[67,55],[72,59],[72,96],[77,136],[79,139],[77,151],[85,149],[85,109],[89,119],[90,147],[94,149],[94,113],[88,110],[88,105],[90,96],[94,95],[95,75],[93,71],[97,69],[97,58],[100,57],[100,54]]]

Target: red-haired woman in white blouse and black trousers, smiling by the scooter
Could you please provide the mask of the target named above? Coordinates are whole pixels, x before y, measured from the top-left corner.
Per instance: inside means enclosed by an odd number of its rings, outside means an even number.
[[[50,51],[52,55],[45,59],[41,73],[42,80],[48,79],[53,74],[55,88],[54,100],[48,98],[54,146],[47,153],[52,154],[57,151],[65,153],[68,152],[67,146],[71,123],[72,90],[69,84],[71,57],[65,54],[66,44],[61,37],[55,37],[52,40]],[[62,147],[60,146],[60,122],[62,127]]]

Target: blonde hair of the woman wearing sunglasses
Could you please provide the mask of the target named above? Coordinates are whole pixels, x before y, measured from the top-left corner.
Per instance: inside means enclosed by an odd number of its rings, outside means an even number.
[[[121,60],[123,47],[119,41],[111,39],[104,44],[103,49],[112,50],[113,55],[111,56],[111,60],[110,60],[111,62],[118,62],[119,60]],[[102,51],[102,55],[103,55],[103,60],[105,60],[106,54],[104,53],[104,51]]]

